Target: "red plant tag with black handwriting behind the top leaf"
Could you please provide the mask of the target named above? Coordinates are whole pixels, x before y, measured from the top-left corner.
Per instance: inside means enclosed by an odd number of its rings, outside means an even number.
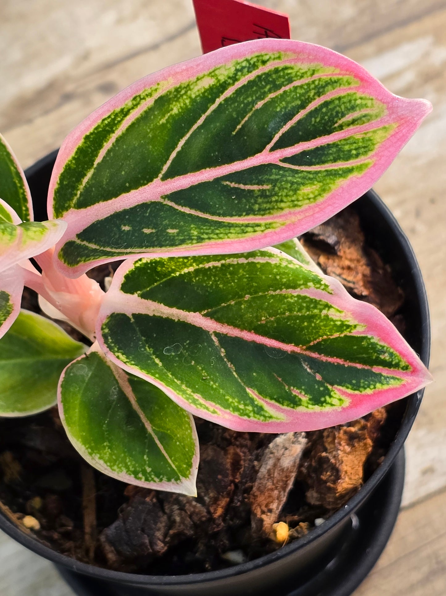
[[[193,0],[203,54],[249,39],[290,39],[287,14],[243,0]]]

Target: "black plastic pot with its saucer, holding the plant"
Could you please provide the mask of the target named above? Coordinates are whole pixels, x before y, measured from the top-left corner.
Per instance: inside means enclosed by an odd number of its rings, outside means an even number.
[[[56,152],[30,167],[36,220],[46,219],[46,193]],[[429,310],[425,287],[412,247],[375,192],[354,203],[370,247],[391,266],[406,294],[406,337],[428,365]],[[391,534],[404,482],[403,444],[417,414],[423,390],[406,398],[397,436],[380,467],[360,491],[322,526],[280,550],[230,569],[184,576],[147,576],[114,572],[78,563],[26,535],[5,516],[0,528],[42,557],[53,561],[77,594],[95,596],[348,596],[362,582]]]

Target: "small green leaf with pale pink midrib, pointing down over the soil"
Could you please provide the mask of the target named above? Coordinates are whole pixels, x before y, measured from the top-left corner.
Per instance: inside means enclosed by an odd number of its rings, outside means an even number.
[[[158,387],[125,374],[97,344],[62,374],[59,412],[77,451],[104,474],[196,496],[193,418]]]

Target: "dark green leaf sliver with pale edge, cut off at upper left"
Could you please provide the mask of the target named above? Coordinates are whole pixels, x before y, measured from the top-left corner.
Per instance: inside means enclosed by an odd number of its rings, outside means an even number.
[[[0,198],[14,209],[21,221],[33,220],[33,204],[28,183],[11,147],[2,135],[0,135]],[[1,207],[0,215],[2,215]]]

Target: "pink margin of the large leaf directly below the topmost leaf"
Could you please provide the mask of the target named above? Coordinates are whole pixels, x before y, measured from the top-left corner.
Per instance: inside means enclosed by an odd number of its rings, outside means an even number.
[[[276,249],[270,250],[276,253],[280,252]],[[281,254],[283,255],[284,253]],[[292,259],[292,257],[289,258]],[[389,387],[388,389],[375,390],[369,393],[347,392],[345,389],[334,387],[338,393],[350,399],[350,403],[344,407],[329,408],[319,411],[294,410],[278,405],[272,405],[271,402],[263,399],[255,392],[252,392],[253,395],[255,395],[259,401],[266,406],[266,408],[269,408],[273,414],[284,418],[283,420],[274,420],[269,422],[259,422],[258,420],[249,420],[238,417],[222,408],[219,408],[214,403],[207,403],[207,405],[216,411],[219,411],[218,415],[191,406],[186,399],[181,398],[181,396],[175,393],[164,383],[161,383],[155,378],[150,377],[150,375],[142,373],[142,371],[138,370],[136,367],[131,367],[122,362],[117,358],[117,356],[114,355],[114,353],[111,352],[111,350],[108,349],[103,341],[101,333],[102,324],[111,313],[123,312],[128,316],[131,316],[134,312],[133,309],[131,309],[131,304],[134,303],[133,299],[135,297],[122,293],[120,291],[120,286],[125,274],[133,267],[133,264],[136,260],[137,259],[125,260],[125,262],[117,269],[114,275],[111,287],[106,293],[105,300],[102,303],[102,307],[99,312],[98,323],[96,326],[96,337],[98,339],[98,344],[100,349],[112,362],[123,368],[123,370],[128,371],[128,373],[137,375],[138,377],[153,383],[159,387],[159,389],[164,391],[169,398],[173,399],[175,403],[178,403],[178,405],[193,415],[205,418],[206,420],[210,420],[211,422],[225,426],[228,429],[237,430],[240,432],[285,433],[319,430],[328,428],[330,426],[335,426],[336,424],[345,424],[351,420],[365,416],[373,410],[387,405],[388,403],[394,402],[397,399],[405,398],[408,395],[412,395],[412,393],[416,393],[418,390],[432,382],[432,375],[429,373],[428,369],[416,355],[412,347],[409,346],[406,340],[404,340],[394,325],[391,324],[391,322],[385,315],[382,314],[382,312],[378,311],[375,306],[372,306],[367,302],[356,300],[351,297],[343,285],[341,285],[341,283],[334,278],[327,275],[321,275],[321,277],[331,287],[332,294],[327,294],[322,290],[305,290],[304,294],[317,299],[325,300],[326,302],[329,302],[335,306],[335,308],[341,309],[341,311],[346,313],[348,317],[353,318],[354,321],[358,322],[359,324],[365,325],[365,329],[357,332],[357,334],[372,335],[376,337],[376,339],[381,340],[394,349],[395,352],[401,356],[401,358],[409,363],[410,367],[412,367],[411,371],[400,372],[384,367],[373,367],[372,370],[389,375],[393,374],[397,377],[403,378],[403,383],[398,387]],[[148,302],[142,299],[138,300],[140,300],[142,303]],[[153,305],[153,303],[151,304]],[[175,315],[177,315],[177,312],[173,312],[176,311],[176,309],[170,309],[168,307],[163,307],[162,305],[159,306],[161,306],[161,310],[164,308],[165,316],[173,315],[172,318],[175,318]],[[140,310],[139,312],[143,311]],[[161,311],[158,311],[157,314],[159,315],[160,312]],[[188,322],[194,324],[195,321],[195,324],[200,326],[199,319],[201,315],[199,315],[199,313],[188,313],[188,315]],[[218,328],[218,325],[218,323],[215,323],[215,328]],[[230,331],[229,334],[242,337],[243,339],[253,340],[253,334],[243,331],[241,332],[240,330],[234,329],[233,333]],[[293,352],[303,351],[296,349],[295,346],[286,346],[285,344],[281,344],[281,346],[279,346],[278,342],[275,342],[274,340],[265,340],[265,338],[263,338],[263,340],[264,341],[262,343],[265,343],[265,345],[270,345],[271,347],[282,347],[282,349],[287,349],[288,347],[288,350]],[[305,353],[306,355],[314,356],[316,358],[321,357],[318,353],[312,353],[311,350],[305,350]],[[337,362],[337,359],[335,358],[326,359]],[[205,400],[203,400],[203,402],[206,403]]]

